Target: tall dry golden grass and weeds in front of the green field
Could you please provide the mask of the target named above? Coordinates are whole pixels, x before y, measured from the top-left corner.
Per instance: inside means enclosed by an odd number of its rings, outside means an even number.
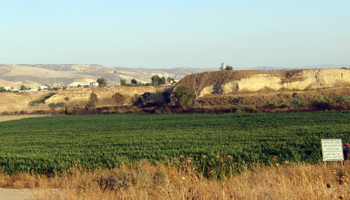
[[[181,164],[181,165],[180,165]],[[179,165],[147,161],[119,168],[84,170],[73,166],[51,177],[20,173],[0,175],[1,187],[42,188],[36,199],[52,199],[50,188],[58,188],[55,199],[349,199],[350,164],[328,163],[259,164],[222,166],[227,177],[215,172],[203,178],[190,161]],[[238,170],[240,169],[240,170]]]

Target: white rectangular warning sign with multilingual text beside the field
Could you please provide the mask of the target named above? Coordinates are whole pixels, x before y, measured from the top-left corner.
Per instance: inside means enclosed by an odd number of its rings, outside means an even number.
[[[321,143],[323,161],[344,160],[341,139],[324,139]]]

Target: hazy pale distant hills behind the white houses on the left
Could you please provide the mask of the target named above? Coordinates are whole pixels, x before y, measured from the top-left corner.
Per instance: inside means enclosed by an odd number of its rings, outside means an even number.
[[[77,64],[19,64],[0,65],[0,79],[7,85],[18,85],[24,82],[37,84],[63,83],[66,85],[85,85],[100,77],[107,79],[109,84],[118,84],[120,79],[130,83],[133,78],[138,81],[151,82],[153,75],[173,77],[176,81],[189,74],[214,71],[216,69],[173,68],[173,69],[137,69],[112,68],[102,65]],[[14,84],[10,82],[15,82]],[[7,86],[0,85],[0,86]]]

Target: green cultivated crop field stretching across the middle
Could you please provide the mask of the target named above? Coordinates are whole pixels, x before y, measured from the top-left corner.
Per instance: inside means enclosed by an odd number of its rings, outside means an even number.
[[[231,155],[238,163],[317,162],[321,139],[350,142],[350,113],[58,116],[0,122],[0,128],[0,167],[9,173],[59,171],[72,161],[112,168],[180,155],[197,166],[203,155]]]

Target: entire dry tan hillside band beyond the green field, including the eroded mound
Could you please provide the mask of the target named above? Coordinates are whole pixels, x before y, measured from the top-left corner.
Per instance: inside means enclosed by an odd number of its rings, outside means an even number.
[[[312,102],[320,96],[335,99],[338,95],[350,95],[350,70],[212,71],[188,75],[175,86],[167,85],[156,88],[153,86],[82,88],[17,94],[2,92],[0,93],[0,113],[49,111],[50,103],[61,102],[65,103],[64,107],[84,108],[91,92],[95,92],[99,98],[97,106],[116,105],[112,99],[112,95],[116,92],[125,97],[120,104],[130,103],[130,98],[134,94],[141,95],[150,92],[152,95],[148,97],[148,101],[160,105],[163,103],[162,92],[169,92],[170,97],[174,88],[179,85],[186,85],[195,94],[196,99],[191,104],[195,108],[212,109],[217,105],[226,106],[228,109],[248,105],[260,108],[264,107],[266,102],[279,102],[281,99],[284,99],[283,101],[288,102],[289,105],[295,101],[295,98],[304,98],[308,106],[312,106]],[[32,103],[43,98],[45,100],[43,103]]]

